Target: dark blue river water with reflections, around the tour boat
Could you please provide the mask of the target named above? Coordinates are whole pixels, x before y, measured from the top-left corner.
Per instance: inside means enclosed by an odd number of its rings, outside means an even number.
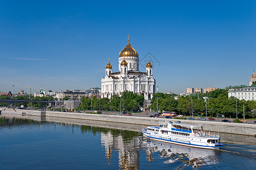
[[[256,169],[254,137],[221,134],[225,147],[205,150],[150,141],[124,124],[59,121],[0,117],[0,169]]]

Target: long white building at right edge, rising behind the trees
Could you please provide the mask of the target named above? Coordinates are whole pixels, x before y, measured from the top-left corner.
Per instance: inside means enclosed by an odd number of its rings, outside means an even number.
[[[256,100],[256,87],[229,89],[228,96],[237,97],[239,100]]]

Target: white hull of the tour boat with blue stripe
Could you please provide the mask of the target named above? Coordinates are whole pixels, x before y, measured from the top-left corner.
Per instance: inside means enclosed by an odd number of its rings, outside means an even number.
[[[144,137],[150,138],[154,141],[160,141],[160,142],[167,142],[167,143],[173,143],[176,145],[182,145],[182,146],[189,146],[189,147],[196,147],[196,148],[205,148],[205,149],[211,149],[211,150],[216,150],[219,149],[222,146],[203,146],[203,145],[195,145],[192,143],[183,143],[183,142],[176,142],[176,141],[172,141],[171,139],[163,139],[163,138],[159,138],[159,137],[152,137],[150,135],[150,133],[146,133],[143,130],[141,131],[144,135]]]

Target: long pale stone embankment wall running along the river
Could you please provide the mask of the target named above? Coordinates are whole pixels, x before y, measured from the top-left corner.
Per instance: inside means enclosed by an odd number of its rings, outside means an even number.
[[[135,124],[143,126],[158,126],[159,121],[180,121],[183,124],[193,124],[203,126],[204,130],[219,131],[220,133],[240,134],[256,136],[255,124],[237,124],[228,122],[215,122],[215,121],[196,121],[196,120],[176,120],[165,118],[151,118],[139,116],[118,116],[107,114],[89,114],[89,113],[67,113],[67,112],[53,112],[53,111],[30,111],[24,109],[5,109],[2,114],[22,114],[40,117],[59,117],[59,118],[73,118],[79,120],[93,120],[102,122],[119,122],[122,124]]]

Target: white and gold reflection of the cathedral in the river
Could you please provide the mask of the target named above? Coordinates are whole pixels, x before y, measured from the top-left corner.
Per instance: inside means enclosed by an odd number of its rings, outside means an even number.
[[[113,151],[118,151],[119,168],[138,169],[139,150],[135,147],[139,145],[139,137],[134,137],[131,142],[126,142],[122,135],[112,133],[101,133],[101,143],[105,146],[105,156],[108,164],[111,164]]]

